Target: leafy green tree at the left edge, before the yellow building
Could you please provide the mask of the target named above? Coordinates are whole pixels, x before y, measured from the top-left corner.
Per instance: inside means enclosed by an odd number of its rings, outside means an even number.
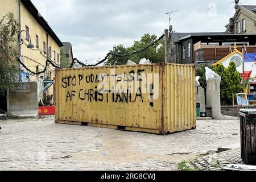
[[[15,62],[18,53],[14,48],[18,41],[18,27],[13,13],[8,13],[0,20],[0,94],[4,94],[7,88],[13,90],[13,83],[18,78],[18,62]]]

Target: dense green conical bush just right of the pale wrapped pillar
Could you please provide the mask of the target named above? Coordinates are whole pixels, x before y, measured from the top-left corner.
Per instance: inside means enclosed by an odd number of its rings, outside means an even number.
[[[236,69],[236,63],[229,63],[229,67],[218,64],[213,67],[213,71],[221,76],[220,97],[222,105],[232,105],[232,93],[235,95],[242,92],[240,73]]]

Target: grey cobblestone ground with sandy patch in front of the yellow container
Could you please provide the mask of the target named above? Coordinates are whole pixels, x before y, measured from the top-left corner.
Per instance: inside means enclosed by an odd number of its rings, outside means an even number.
[[[166,136],[61,125],[53,117],[0,122],[0,170],[177,170],[183,160],[239,146],[239,121],[197,121]]]

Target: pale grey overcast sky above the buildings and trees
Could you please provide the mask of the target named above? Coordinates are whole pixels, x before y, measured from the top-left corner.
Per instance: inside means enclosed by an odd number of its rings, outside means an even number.
[[[143,34],[162,35],[167,12],[176,32],[225,31],[233,0],[32,0],[62,42],[71,42],[79,60],[96,63],[114,45],[131,46]],[[255,0],[240,0],[255,5]]]

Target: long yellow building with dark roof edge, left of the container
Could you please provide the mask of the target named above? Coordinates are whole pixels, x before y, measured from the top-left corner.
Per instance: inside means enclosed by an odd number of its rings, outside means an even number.
[[[14,14],[20,24],[19,31],[22,31],[20,39],[23,40],[23,44],[16,43],[20,60],[33,72],[43,71],[47,59],[60,65],[60,47],[63,47],[63,44],[32,2],[30,0],[0,0],[0,17],[9,12]],[[27,47],[30,41],[34,48]],[[55,73],[51,65],[47,67],[47,72],[41,75],[33,75],[22,66],[20,68],[22,70],[20,81],[40,83],[41,98],[43,93],[44,95],[54,94],[52,84]],[[51,86],[48,88],[47,85]]]

